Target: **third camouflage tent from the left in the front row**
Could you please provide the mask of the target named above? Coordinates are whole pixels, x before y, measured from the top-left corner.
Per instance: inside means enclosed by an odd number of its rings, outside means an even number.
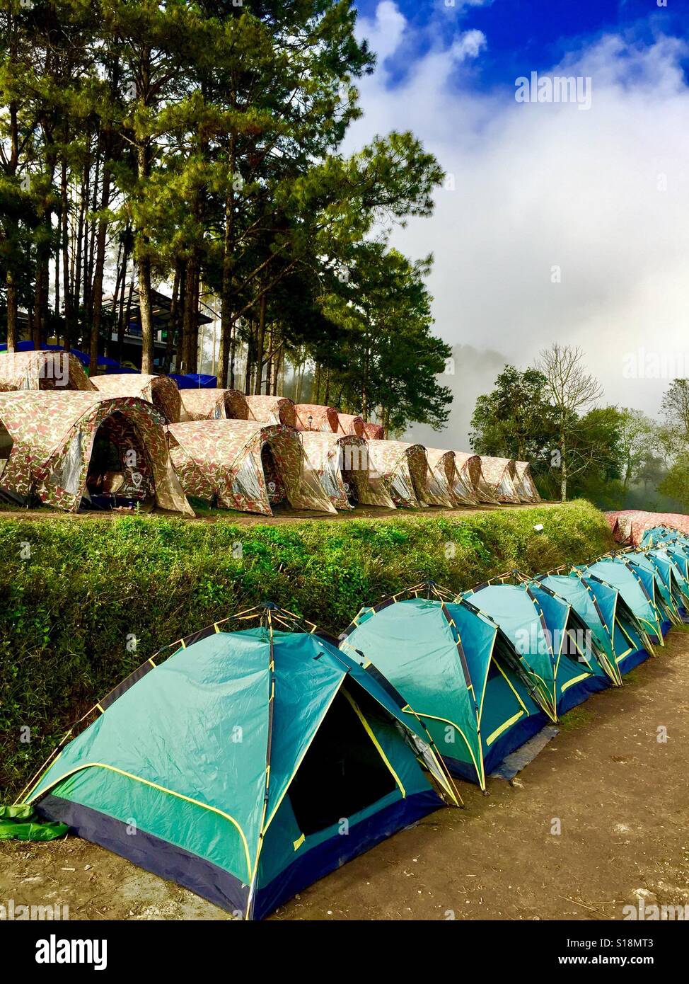
[[[335,509],[352,509],[367,498],[369,455],[364,438],[317,431],[305,431],[301,437],[307,461]]]

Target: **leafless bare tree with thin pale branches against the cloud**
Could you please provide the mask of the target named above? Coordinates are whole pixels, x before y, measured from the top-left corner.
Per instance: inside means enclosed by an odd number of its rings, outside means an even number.
[[[538,362],[538,368],[547,380],[550,402],[557,412],[562,502],[567,501],[567,477],[570,474],[569,438],[578,426],[579,415],[603,396],[596,377],[586,371],[583,358],[584,353],[578,346],[555,341],[543,349]]]

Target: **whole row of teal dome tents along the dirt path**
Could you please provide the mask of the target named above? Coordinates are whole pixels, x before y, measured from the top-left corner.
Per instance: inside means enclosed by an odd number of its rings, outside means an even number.
[[[620,687],[689,610],[689,537],[455,594],[418,584],[338,639],[264,604],[169,646],[92,707],[16,811],[243,918],[487,776]],[[136,835],[132,835],[132,825]]]

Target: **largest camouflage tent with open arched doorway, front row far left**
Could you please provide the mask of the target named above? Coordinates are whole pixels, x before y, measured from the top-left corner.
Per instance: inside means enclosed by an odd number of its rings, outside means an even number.
[[[167,452],[163,419],[136,397],[0,394],[0,490],[75,511],[82,500],[154,502],[194,516]]]

